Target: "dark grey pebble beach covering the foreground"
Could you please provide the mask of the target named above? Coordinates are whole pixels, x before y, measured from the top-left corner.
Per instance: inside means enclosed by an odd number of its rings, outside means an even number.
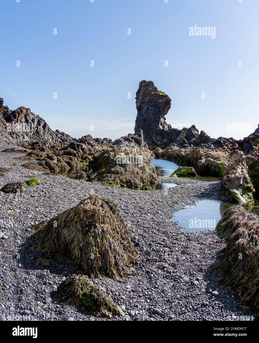
[[[1,150],[6,147],[11,146]],[[224,200],[219,181],[174,178],[177,187],[167,190],[114,189],[25,169],[20,166],[24,161],[14,159],[21,155],[0,153],[0,166],[11,168],[0,177],[0,187],[30,178],[38,178],[41,184],[24,184],[26,192],[17,196],[0,193],[0,231],[4,233],[0,239],[4,285],[0,320],[110,320],[57,301],[55,287],[75,272],[70,261],[53,260],[35,267],[24,251],[33,223],[49,220],[90,194],[118,205],[140,255],[136,273],[125,283],[108,278],[94,281],[107,289],[125,312],[125,317],[111,320],[227,320],[229,315],[241,314],[231,289],[221,287],[219,276],[208,271],[216,261],[214,253],[223,247],[215,243],[215,231],[185,233],[169,220],[175,211],[196,200]],[[161,178],[161,182],[172,182],[172,178]]]

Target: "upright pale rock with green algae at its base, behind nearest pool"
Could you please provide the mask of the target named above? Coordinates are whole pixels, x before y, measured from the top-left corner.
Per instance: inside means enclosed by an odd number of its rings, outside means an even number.
[[[238,204],[253,199],[255,189],[248,176],[248,167],[242,152],[236,150],[233,154],[223,171],[221,186],[224,193]]]

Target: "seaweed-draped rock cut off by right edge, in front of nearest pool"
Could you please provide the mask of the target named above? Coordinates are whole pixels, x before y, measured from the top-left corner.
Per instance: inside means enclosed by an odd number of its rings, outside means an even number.
[[[259,216],[242,206],[225,211],[216,231],[226,240],[224,257],[212,269],[224,276],[224,285],[235,289],[246,305],[259,305]]]

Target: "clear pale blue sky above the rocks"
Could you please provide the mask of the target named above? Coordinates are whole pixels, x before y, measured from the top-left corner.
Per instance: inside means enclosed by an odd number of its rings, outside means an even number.
[[[134,132],[139,82],[152,80],[173,127],[243,138],[259,123],[259,1],[239,1],[2,0],[0,97],[74,138],[116,139]],[[216,37],[190,36],[195,25]]]

